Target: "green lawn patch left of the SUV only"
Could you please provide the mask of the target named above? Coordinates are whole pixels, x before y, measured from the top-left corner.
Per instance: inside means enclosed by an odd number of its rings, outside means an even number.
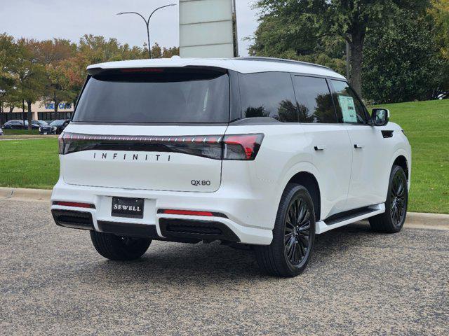
[[[51,189],[58,176],[58,139],[0,141],[1,187]]]

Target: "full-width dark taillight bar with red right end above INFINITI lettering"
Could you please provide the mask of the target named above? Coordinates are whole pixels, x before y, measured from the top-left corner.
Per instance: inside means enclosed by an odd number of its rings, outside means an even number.
[[[214,160],[254,160],[263,134],[122,136],[64,132],[59,138],[61,155],[80,151],[171,152]]]

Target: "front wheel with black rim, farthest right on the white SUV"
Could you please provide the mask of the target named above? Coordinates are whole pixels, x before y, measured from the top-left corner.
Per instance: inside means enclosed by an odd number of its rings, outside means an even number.
[[[385,212],[369,218],[371,228],[376,232],[396,233],[401,231],[407,216],[408,184],[406,172],[394,165],[388,184]]]

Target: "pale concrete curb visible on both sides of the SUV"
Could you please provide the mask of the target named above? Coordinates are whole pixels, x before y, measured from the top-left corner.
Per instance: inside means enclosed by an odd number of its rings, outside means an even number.
[[[0,187],[0,200],[49,202],[51,191],[52,190]],[[408,212],[406,226],[410,228],[449,228],[449,215]]]

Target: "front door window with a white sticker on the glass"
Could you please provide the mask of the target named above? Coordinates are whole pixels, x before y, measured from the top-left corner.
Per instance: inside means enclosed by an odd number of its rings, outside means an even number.
[[[349,84],[341,80],[332,80],[332,85],[335,90],[335,106],[340,123],[366,124],[363,104]]]

